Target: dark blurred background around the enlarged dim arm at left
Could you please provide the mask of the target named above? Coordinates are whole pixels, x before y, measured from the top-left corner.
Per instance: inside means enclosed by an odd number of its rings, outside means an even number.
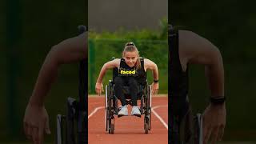
[[[23,114],[38,72],[51,46],[78,34],[87,23],[87,2],[6,0],[0,2],[0,143],[22,143]],[[66,98],[78,98],[78,63],[61,66],[46,97],[54,142],[57,114],[66,114]]]

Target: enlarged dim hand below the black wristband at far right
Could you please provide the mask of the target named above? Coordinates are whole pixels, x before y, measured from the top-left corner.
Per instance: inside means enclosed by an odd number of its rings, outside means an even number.
[[[203,143],[208,143],[210,136],[213,144],[221,141],[226,126],[226,106],[210,104],[203,113]]]

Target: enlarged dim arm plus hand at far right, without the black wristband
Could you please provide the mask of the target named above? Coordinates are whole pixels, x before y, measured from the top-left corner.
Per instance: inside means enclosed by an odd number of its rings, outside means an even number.
[[[182,69],[187,63],[197,63],[205,66],[211,96],[224,97],[224,68],[222,55],[218,48],[198,34],[179,30],[179,55]],[[203,138],[207,143],[210,136],[213,143],[221,140],[226,126],[225,102],[219,105],[210,104],[203,114]]]

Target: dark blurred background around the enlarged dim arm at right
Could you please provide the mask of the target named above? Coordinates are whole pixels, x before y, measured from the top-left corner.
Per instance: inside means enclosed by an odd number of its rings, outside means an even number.
[[[256,10],[254,1],[170,1],[169,22],[213,42],[222,53],[227,98],[225,141],[256,143]],[[203,66],[190,66],[190,102],[202,112],[210,91]]]

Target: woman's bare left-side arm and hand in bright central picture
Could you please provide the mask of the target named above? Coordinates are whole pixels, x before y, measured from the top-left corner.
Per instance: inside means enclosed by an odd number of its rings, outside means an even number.
[[[98,74],[98,79],[97,79],[97,82],[95,85],[95,91],[98,95],[102,94],[102,79],[104,78],[104,76],[106,74],[106,70],[109,70],[114,67],[119,67],[119,65],[120,65],[120,59],[116,58],[110,62],[106,62],[102,66],[102,70]]]

